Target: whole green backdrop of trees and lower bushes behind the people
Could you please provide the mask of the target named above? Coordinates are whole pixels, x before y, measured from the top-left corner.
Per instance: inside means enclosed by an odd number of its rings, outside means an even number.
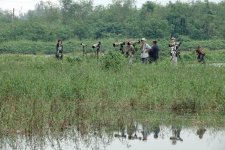
[[[182,51],[192,51],[198,45],[208,50],[225,49],[224,2],[133,6],[125,0],[109,7],[93,7],[88,1],[65,0],[61,8],[40,3],[38,9],[13,21],[9,13],[0,10],[0,53],[53,54],[57,39],[63,40],[66,53],[81,51],[81,42],[88,45],[86,51],[93,52],[91,46],[98,41],[102,51],[108,51],[117,49],[113,42],[145,37],[149,44],[158,40],[161,54],[167,55],[171,36],[183,42]]]

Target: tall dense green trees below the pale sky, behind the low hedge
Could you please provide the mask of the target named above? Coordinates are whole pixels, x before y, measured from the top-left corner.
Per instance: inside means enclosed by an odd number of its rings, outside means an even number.
[[[0,42],[10,40],[140,38],[208,40],[225,38],[225,1],[112,0],[94,6],[92,0],[59,0],[60,5],[40,1],[35,10],[13,16],[0,10]]]

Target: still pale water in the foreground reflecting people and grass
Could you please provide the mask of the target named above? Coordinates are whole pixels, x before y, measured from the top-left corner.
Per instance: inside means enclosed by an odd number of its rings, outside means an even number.
[[[225,129],[131,126],[92,131],[69,129],[48,136],[1,137],[0,149],[23,150],[225,150]]]

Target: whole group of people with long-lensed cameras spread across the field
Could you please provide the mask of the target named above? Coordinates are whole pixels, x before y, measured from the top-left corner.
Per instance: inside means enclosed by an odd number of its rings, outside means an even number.
[[[133,62],[134,59],[134,54],[135,54],[135,47],[134,47],[134,43],[132,41],[128,41],[128,42],[121,42],[119,44],[113,44],[113,46],[115,47],[116,45],[120,45],[120,50],[123,54],[125,54],[126,57],[129,58],[129,63]],[[157,45],[157,41],[153,40],[152,41],[152,45],[150,46],[147,43],[147,40],[145,38],[142,38],[140,41],[138,41],[138,43],[140,43],[140,49],[141,49],[141,54],[140,54],[140,58],[141,58],[141,62],[142,63],[152,63],[152,62],[157,62],[158,58],[159,58],[159,47]],[[125,47],[124,50],[124,45],[127,45],[127,47]],[[92,48],[96,48],[97,47],[97,56],[98,53],[100,51],[100,45],[101,42],[94,44],[92,46]],[[169,47],[171,48],[170,51],[170,55],[171,55],[171,61],[173,61],[174,63],[177,63],[177,59],[181,59],[180,56],[180,51],[179,51],[179,47],[181,45],[181,42],[177,42],[175,38],[171,37],[170,38],[170,42],[169,42]],[[95,47],[94,47],[95,46]],[[84,49],[84,47],[83,47]],[[84,50],[83,50],[84,51]],[[205,63],[204,57],[205,57],[205,52],[203,50],[202,47],[198,46],[196,49],[196,54],[197,54],[197,60],[200,63]],[[56,44],[56,58],[57,59],[63,59],[63,45],[62,45],[62,40],[58,40],[57,44]]]

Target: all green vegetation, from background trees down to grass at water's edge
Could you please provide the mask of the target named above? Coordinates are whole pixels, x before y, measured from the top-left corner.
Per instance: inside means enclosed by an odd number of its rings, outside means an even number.
[[[40,2],[13,20],[0,10],[0,136],[44,134],[46,128],[61,131],[76,123],[113,126],[148,120],[149,113],[156,122],[171,123],[176,113],[193,124],[224,124],[225,70],[209,65],[225,62],[224,11],[225,2],[207,0],[146,2],[140,9],[133,0],[107,7],[92,1],[61,0],[61,7]],[[183,42],[178,66],[168,63],[170,36]],[[130,65],[112,51],[113,42],[141,37],[158,40],[158,64],[141,64],[138,51]],[[63,61],[43,55],[55,53],[57,39],[63,40]],[[97,60],[91,46],[98,41],[104,56]],[[88,45],[86,57],[81,42]],[[206,50],[205,65],[196,63],[198,45]],[[199,116],[209,113],[216,115]]]

